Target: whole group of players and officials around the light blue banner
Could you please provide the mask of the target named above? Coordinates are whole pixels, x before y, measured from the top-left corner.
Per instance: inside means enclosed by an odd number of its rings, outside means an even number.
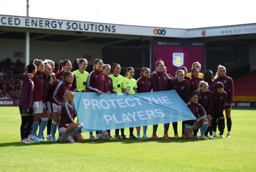
[[[149,68],[142,68],[141,77],[138,80],[132,78],[134,69],[128,67],[123,77],[120,75],[121,66],[113,63],[111,66],[103,64],[103,61],[94,61],[94,70],[89,74],[85,71],[88,62],[86,59],[77,59],[79,70],[71,72],[72,65],[69,60],[61,61],[58,73],[54,74],[54,62],[51,60],[34,60],[32,64],[25,66],[22,74],[24,82],[20,94],[21,127],[20,143],[38,143],[50,140],[82,142],[81,129],[83,124],[74,121],[76,109],[74,107],[73,92],[97,92],[98,94],[136,94],[143,92],[158,92],[176,90],[180,98],[197,118],[196,120],[182,122],[182,137],[187,139],[213,139],[223,136],[226,113],[228,134],[231,131],[231,103],[233,97],[233,80],[226,76],[226,68],[219,65],[216,75],[207,70],[200,73],[200,63],[192,65],[192,72],[187,73],[186,67],[181,67],[176,72],[175,78],[166,73],[164,62],[159,59],[156,62],[156,71],[150,75]],[[104,119],[102,119],[104,120]],[[170,123],[164,124],[164,138],[168,135]],[[174,138],[178,138],[178,123],[172,123]],[[219,134],[216,134],[216,129]],[[39,131],[38,131],[39,126]],[[47,137],[43,132],[47,126]],[[55,134],[58,128],[59,135]],[[156,135],[158,125],[153,125],[152,138]],[[198,129],[200,128],[200,137]],[[140,138],[140,127],[136,127],[137,134],[133,134],[134,127],[129,129],[130,139]],[[37,133],[38,131],[38,133]],[[119,134],[121,131],[121,134]],[[143,138],[146,135],[147,126],[143,126]],[[107,133],[107,134],[106,134]],[[210,133],[210,135],[208,135]],[[116,129],[116,139],[126,139],[124,129]],[[90,139],[113,139],[110,130],[96,131],[96,137],[90,132]]]

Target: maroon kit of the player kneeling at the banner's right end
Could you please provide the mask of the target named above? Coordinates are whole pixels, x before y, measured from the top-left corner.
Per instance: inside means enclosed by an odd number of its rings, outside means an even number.
[[[194,104],[194,103],[190,102],[189,104],[187,104],[187,106],[192,111],[192,113],[196,117],[197,121],[200,121],[206,117],[204,108],[200,104]],[[184,121],[184,124],[194,125],[194,121],[195,120]]]

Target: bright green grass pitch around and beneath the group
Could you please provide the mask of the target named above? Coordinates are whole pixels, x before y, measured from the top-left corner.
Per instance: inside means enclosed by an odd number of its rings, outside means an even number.
[[[115,139],[102,142],[90,141],[88,133],[83,133],[84,143],[22,145],[18,107],[1,107],[0,171],[252,172],[256,171],[255,112],[254,109],[232,110],[232,138],[228,139]],[[178,127],[181,129],[181,123]],[[163,128],[159,125],[158,136],[163,135]],[[114,134],[114,130],[111,132]],[[129,129],[125,129],[125,133],[128,135]],[[152,126],[148,128],[148,135],[151,134]],[[173,135],[172,125],[169,134]]]

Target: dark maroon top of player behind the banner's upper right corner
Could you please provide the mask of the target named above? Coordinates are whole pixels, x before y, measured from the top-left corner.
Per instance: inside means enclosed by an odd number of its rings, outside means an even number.
[[[171,80],[172,89],[176,90],[180,98],[188,103],[190,101],[190,84],[187,80],[182,80],[182,82],[178,82],[178,78]]]

